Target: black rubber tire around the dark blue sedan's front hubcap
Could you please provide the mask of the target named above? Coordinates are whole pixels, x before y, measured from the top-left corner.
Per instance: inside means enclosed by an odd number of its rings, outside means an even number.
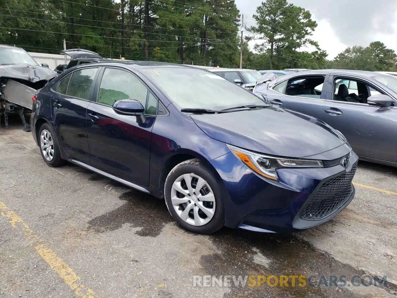
[[[183,174],[195,174],[200,176],[210,186],[214,197],[215,197],[215,212],[212,219],[202,225],[202,226],[194,226],[192,224],[186,223],[179,217],[173,208],[171,202],[171,190],[172,185]],[[202,163],[199,159],[190,159],[188,161],[184,161],[177,166],[175,166],[171,172],[168,174],[166,178],[166,183],[164,185],[164,198],[166,201],[166,205],[168,211],[170,211],[173,219],[184,229],[189,230],[191,232],[199,233],[199,234],[211,234],[219,230],[224,226],[224,204],[222,200],[222,193],[220,191],[219,182],[215,178],[214,174],[212,174],[211,170]]]

